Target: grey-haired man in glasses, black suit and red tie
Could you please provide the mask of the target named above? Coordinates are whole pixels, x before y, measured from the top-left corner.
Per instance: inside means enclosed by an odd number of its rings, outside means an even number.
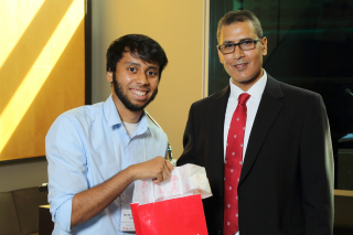
[[[267,39],[254,13],[225,14],[217,40],[229,85],[191,106],[176,162],[205,167],[208,233],[331,235],[333,157],[321,96],[265,72]]]

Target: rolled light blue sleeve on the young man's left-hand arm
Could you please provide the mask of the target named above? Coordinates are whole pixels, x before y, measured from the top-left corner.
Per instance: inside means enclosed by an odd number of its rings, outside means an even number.
[[[62,115],[45,138],[52,220],[66,232],[71,231],[74,195],[88,189],[87,160],[77,128],[77,125]]]

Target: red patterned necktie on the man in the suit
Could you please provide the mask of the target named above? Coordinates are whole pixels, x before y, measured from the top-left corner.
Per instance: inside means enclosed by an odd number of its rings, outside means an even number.
[[[242,167],[243,142],[246,125],[246,102],[250,95],[243,93],[238,98],[228,131],[224,164],[224,235],[238,232],[238,193]]]

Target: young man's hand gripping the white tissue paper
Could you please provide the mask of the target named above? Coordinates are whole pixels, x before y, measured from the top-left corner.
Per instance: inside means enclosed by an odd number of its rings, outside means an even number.
[[[153,179],[153,183],[160,183],[168,179],[173,165],[163,157],[156,157],[149,161],[132,164],[131,173],[138,180]]]

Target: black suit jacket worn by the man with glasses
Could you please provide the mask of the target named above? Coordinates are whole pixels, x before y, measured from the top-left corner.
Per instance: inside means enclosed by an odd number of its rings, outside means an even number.
[[[206,169],[210,235],[223,234],[224,118],[231,88],[191,106],[178,165]],[[333,156],[320,95],[268,75],[238,184],[240,235],[333,232]]]

